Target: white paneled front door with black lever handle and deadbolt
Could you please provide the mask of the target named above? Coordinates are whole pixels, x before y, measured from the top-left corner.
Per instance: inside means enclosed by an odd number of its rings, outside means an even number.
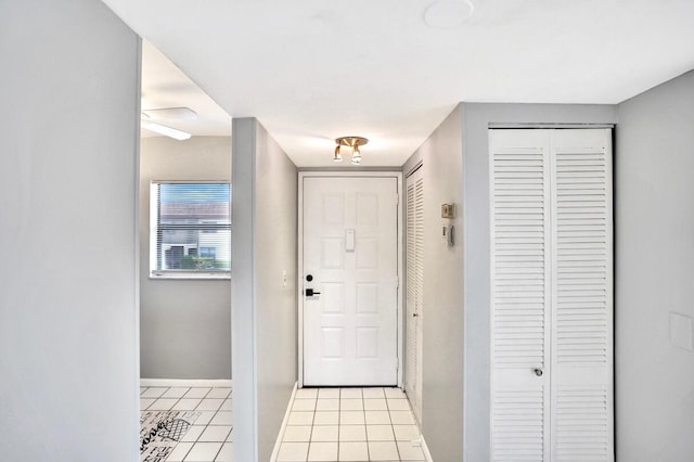
[[[398,178],[303,178],[304,385],[397,385]]]

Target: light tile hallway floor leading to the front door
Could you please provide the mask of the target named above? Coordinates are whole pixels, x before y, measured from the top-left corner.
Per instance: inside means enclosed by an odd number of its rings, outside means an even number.
[[[290,406],[278,462],[425,460],[399,388],[303,388]]]

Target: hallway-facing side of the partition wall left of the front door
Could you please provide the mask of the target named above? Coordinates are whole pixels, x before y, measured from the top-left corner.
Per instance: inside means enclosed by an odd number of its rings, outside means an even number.
[[[258,460],[266,461],[297,381],[298,176],[280,145],[256,124]]]

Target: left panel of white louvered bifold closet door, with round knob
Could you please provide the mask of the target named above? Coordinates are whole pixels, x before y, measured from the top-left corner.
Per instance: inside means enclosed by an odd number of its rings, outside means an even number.
[[[492,460],[541,462],[549,460],[549,142],[540,130],[491,130],[489,143]]]

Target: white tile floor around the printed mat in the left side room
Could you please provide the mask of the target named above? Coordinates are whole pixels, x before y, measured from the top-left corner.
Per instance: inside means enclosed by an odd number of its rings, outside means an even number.
[[[230,462],[233,452],[231,388],[141,387],[141,411],[200,411],[166,462]]]

